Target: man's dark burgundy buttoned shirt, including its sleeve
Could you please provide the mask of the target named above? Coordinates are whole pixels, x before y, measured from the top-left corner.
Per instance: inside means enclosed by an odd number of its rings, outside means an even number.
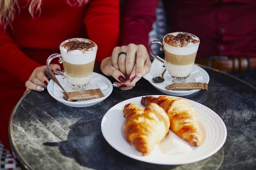
[[[128,20],[122,23],[126,28],[124,33],[121,30],[122,43],[148,46],[145,32],[151,28],[157,1],[140,0],[137,5],[131,0],[132,6],[125,6]],[[164,6],[168,32],[189,32],[201,40],[197,59],[209,55],[256,57],[256,0],[164,0]]]

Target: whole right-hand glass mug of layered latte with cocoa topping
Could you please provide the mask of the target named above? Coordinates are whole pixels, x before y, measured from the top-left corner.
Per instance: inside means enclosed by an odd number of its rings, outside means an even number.
[[[165,60],[154,54],[151,46],[154,43],[161,44],[164,50]],[[185,81],[193,70],[195,57],[200,40],[193,34],[186,32],[173,32],[166,34],[161,40],[153,40],[149,43],[149,52],[152,57],[163,63],[169,76],[178,82]]]

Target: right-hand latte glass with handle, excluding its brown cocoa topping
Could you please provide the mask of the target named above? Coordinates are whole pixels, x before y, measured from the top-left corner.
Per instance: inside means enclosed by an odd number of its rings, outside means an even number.
[[[164,41],[166,35],[172,34],[177,35],[178,33],[188,34],[193,39],[198,40],[199,42],[195,44],[189,44],[183,47],[175,47],[172,45],[167,44]],[[163,67],[166,67],[169,76],[174,81],[183,82],[185,81],[193,70],[193,65],[195,63],[195,57],[198,51],[200,40],[193,34],[189,34],[186,32],[173,32],[166,34],[163,37],[163,41],[161,40],[153,40],[149,43],[149,52],[152,57],[159,60],[163,63]],[[161,50],[164,50],[165,60],[154,54],[151,46],[154,43],[161,44]]]

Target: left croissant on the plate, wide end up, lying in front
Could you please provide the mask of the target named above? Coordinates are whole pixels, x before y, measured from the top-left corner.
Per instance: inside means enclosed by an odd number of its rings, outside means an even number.
[[[145,110],[132,103],[125,105],[124,135],[128,142],[143,154],[148,155],[168,134],[170,120],[166,112],[155,103]]]

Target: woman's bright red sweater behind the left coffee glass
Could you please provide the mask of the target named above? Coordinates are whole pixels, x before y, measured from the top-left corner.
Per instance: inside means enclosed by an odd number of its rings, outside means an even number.
[[[60,53],[64,40],[93,40],[98,45],[97,61],[111,56],[118,45],[119,0],[90,0],[81,7],[70,7],[65,0],[42,0],[41,14],[35,18],[26,4],[20,1],[12,28],[0,26],[0,68],[23,82],[35,68],[46,65],[49,55]]]

